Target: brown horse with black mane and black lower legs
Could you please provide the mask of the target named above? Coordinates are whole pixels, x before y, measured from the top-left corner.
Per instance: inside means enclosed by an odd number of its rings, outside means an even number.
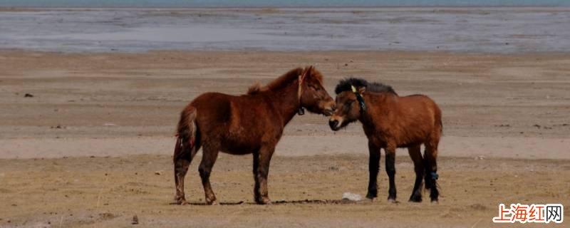
[[[360,78],[348,78],[336,86],[335,113],[329,120],[332,130],[339,130],[348,123],[359,120],[368,137],[370,161],[368,194],[378,196],[378,167],[380,148],[386,155],[385,168],[390,180],[388,201],[395,202],[396,187],[395,149],[408,147],[414,162],[415,185],[410,202],[422,201],[422,180],[430,189],[432,202],[437,202],[437,144],[442,133],[441,110],[425,95],[398,96],[390,86],[368,83]],[[420,145],[425,146],[422,157]]]

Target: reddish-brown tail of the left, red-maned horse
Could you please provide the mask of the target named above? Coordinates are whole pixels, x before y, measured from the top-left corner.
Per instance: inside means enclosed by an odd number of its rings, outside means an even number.
[[[197,110],[188,106],[180,113],[180,120],[177,126],[177,139],[174,149],[174,160],[187,156],[196,145],[196,135],[198,132],[196,125]]]

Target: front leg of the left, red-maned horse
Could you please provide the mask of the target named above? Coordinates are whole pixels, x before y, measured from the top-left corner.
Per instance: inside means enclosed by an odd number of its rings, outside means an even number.
[[[254,152],[254,197],[257,204],[271,204],[267,189],[267,175],[269,175],[269,163],[275,151],[275,146],[263,146],[258,152]]]

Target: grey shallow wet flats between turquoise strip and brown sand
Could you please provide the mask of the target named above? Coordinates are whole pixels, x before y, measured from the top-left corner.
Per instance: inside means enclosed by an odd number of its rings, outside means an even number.
[[[570,52],[566,8],[0,11],[0,49]]]

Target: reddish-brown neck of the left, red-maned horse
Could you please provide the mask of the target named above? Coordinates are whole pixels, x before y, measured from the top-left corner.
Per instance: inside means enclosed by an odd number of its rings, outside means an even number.
[[[297,83],[291,83],[291,85],[279,90],[269,91],[271,93],[271,103],[273,103],[277,113],[281,116],[284,126],[293,119],[300,108],[297,89]]]

